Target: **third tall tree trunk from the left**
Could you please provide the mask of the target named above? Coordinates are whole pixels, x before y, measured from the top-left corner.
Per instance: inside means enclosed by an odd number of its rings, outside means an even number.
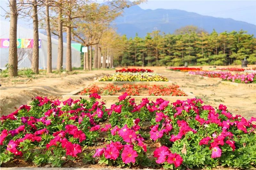
[[[45,1],[46,4],[46,32],[47,32],[47,73],[52,72],[52,40],[50,29],[50,17],[49,17],[49,1]]]

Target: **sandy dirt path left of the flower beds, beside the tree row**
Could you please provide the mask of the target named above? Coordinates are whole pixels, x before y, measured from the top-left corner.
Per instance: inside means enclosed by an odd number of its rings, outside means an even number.
[[[95,70],[90,72],[78,71],[72,75],[38,75],[31,79],[28,84],[25,81],[29,78],[1,78],[0,87],[0,114],[7,115],[15,111],[20,105],[30,103],[36,96],[48,96],[50,99],[61,99],[63,94],[76,90],[81,86],[92,83],[93,78],[102,76],[113,70]]]

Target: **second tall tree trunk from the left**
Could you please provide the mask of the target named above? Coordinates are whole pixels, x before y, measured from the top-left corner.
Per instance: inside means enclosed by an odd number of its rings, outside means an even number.
[[[38,43],[38,18],[37,18],[37,2],[32,1],[33,8],[33,58],[32,58],[32,70],[38,74],[39,70],[39,43]]]

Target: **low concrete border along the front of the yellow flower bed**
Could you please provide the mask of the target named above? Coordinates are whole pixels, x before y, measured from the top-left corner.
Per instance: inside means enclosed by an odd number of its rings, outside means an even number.
[[[93,81],[95,85],[107,85],[107,84],[114,84],[114,85],[168,85],[172,84],[172,81]]]

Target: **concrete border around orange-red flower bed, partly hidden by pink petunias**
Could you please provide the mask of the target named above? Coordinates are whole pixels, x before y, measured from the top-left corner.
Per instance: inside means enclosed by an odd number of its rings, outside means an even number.
[[[80,91],[84,90],[84,88],[79,88],[73,92],[69,92],[65,95],[62,96],[62,99],[63,100],[67,100],[69,98],[72,98],[72,99],[89,99],[89,95],[77,95]],[[180,89],[182,90],[182,89]],[[187,100],[188,98],[195,98],[196,96],[191,93],[191,92],[186,92],[184,90],[182,90],[183,92],[185,92],[188,96],[131,96],[131,98],[134,98],[135,100],[142,100],[143,98],[148,98],[148,100],[156,100],[158,98],[162,98],[164,100],[169,100],[171,102],[173,101],[176,101],[176,100]],[[108,101],[108,100],[118,100],[118,97],[117,95],[113,95],[113,96],[100,96],[100,100],[103,100],[103,101]]]

